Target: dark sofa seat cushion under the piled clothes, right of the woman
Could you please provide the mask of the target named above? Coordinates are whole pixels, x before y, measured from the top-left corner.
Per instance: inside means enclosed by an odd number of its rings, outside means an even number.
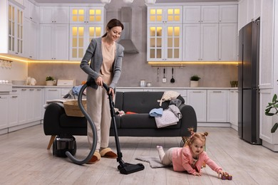
[[[155,118],[150,117],[148,113],[123,115],[120,120],[120,128],[121,129],[158,129],[155,123]],[[180,122],[178,122],[177,125],[172,125],[163,128],[178,129],[180,128]]]

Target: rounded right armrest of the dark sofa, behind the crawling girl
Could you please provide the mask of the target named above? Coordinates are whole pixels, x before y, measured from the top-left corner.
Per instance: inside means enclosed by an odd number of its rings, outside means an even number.
[[[181,125],[180,125],[180,135],[189,137],[190,132],[188,128],[194,128],[194,131],[197,131],[197,117],[196,112],[190,105],[182,104],[179,107],[180,112],[182,113]]]

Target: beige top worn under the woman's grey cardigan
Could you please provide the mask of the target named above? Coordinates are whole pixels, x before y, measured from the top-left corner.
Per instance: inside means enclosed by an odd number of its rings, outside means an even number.
[[[101,65],[101,77],[104,83],[110,85],[113,79],[113,63],[115,60],[115,42],[109,46],[102,41],[101,51],[103,54],[103,65]]]

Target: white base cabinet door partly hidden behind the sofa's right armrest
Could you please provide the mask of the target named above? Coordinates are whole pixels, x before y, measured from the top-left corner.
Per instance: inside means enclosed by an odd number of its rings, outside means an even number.
[[[187,104],[194,108],[197,122],[207,122],[207,90],[187,90]]]

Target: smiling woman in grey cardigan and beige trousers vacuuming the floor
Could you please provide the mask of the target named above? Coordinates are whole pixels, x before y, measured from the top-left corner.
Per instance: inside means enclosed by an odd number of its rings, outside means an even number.
[[[110,130],[110,107],[108,95],[103,88],[103,83],[109,86],[109,92],[115,93],[115,86],[120,78],[123,58],[123,46],[115,41],[120,38],[123,31],[123,23],[117,19],[111,19],[106,28],[106,33],[101,38],[93,38],[83,56],[80,67],[88,74],[87,111],[96,125],[98,141],[96,151],[88,164],[98,162],[101,157],[117,158],[112,149],[108,147]],[[89,61],[91,60],[91,63]],[[101,88],[100,88],[101,87]],[[87,126],[89,147],[93,146],[93,132],[91,125]]]

